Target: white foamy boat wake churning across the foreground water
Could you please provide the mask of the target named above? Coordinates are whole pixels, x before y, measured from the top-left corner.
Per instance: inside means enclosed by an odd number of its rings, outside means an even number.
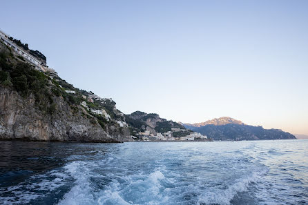
[[[98,162],[99,163],[99,162]],[[110,175],[109,182],[102,187],[95,186],[95,182],[102,182],[102,174],[89,170],[88,167],[103,166],[90,162],[71,162],[65,168],[75,177],[75,186],[70,189],[58,205],[70,204],[231,204],[232,199],[247,191],[249,185],[258,182],[266,170],[252,173],[248,177],[235,180],[235,183],[224,188],[218,186],[202,186],[185,183],[179,179],[166,177],[164,170],[154,170],[152,173],[135,173],[132,175]],[[107,177],[107,176],[106,176]]]

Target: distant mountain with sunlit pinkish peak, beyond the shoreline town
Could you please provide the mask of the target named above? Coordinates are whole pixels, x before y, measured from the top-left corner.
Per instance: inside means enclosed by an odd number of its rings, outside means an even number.
[[[249,126],[231,117],[220,117],[201,123],[182,125],[214,140],[296,139],[294,135],[282,130]]]

